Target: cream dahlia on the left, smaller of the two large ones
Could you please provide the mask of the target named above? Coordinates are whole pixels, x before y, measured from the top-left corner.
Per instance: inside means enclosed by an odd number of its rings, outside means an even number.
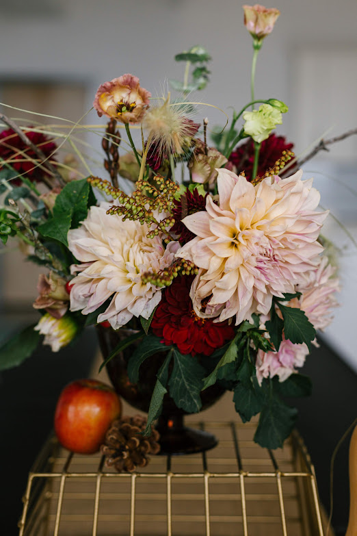
[[[162,236],[146,238],[146,224],[106,214],[109,203],[91,207],[79,229],[68,232],[68,248],[83,264],[72,266],[71,311],[90,314],[111,298],[97,318],[118,329],[133,316],[149,318],[161,299],[161,290],[143,283],[144,272],[172,264],[178,242],[163,248]]]

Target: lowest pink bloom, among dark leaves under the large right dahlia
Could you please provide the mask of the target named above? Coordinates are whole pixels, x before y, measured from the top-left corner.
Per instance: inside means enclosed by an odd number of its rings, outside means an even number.
[[[263,352],[258,350],[256,355],[256,379],[261,385],[263,378],[279,377],[285,381],[297,367],[302,367],[308,355],[306,344],[293,344],[289,340],[282,340],[278,352]]]

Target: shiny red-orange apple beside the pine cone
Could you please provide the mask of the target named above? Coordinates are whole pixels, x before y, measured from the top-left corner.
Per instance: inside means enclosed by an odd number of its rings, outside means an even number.
[[[97,380],[69,383],[59,395],[55,411],[59,443],[72,452],[98,452],[121,409],[120,398],[109,385]]]

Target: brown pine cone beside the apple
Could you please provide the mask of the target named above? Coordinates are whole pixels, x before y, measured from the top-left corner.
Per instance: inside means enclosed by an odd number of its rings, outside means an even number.
[[[105,444],[101,446],[101,452],[106,458],[105,465],[114,465],[119,473],[145,467],[150,460],[148,455],[157,454],[160,450],[159,432],[152,428],[150,437],[144,437],[140,432],[145,427],[146,419],[140,415],[114,420],[105,435]]]

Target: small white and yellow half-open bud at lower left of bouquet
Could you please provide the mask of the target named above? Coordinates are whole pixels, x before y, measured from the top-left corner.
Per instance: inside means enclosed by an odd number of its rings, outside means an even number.
[[[43,344],[49,344],[53,352],[58,352],[74,339],[78,326],[70,315],[58,319],[46,313],[34,329],[44,335]]]

